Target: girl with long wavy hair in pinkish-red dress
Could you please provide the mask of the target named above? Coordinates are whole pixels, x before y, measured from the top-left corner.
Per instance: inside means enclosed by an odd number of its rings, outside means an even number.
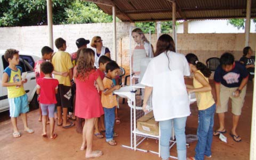
[[[83,48],[74,69],[76,83],[76,110],[75,115],[85,119],[83,128],[83,142],[81,150],[86,148],[86,158],[98,157],[102,151],[92,150],[93,126],[95,119],[104,114],[100,95],[94,86],[98,84],[100,90],[104,89],[99,72],[94,69],[94,51]]]

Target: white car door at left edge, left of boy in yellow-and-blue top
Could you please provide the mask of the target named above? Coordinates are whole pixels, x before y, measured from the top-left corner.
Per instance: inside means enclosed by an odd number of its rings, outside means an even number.
[[[3,112],[5,110],[8,110],[9,109],[9,102],[8,102],[8,97],[7,97],[7,87],[2,87],[2,76],[3,76],[3,72],[4,72],[4,69],[6,67],[8,67],[8,62],[6,62],[6,60],[4,59],[4,56],[2,56],[2,59],[1,59],[1,63],[0,63],[0,77],[1,77],[1,82],[0,82],[0,86],[1,86],[1,89],[0,89],[0,112]]]

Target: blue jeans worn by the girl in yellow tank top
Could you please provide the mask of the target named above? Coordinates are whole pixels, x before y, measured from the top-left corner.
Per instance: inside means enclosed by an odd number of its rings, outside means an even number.
[[[214,124],[214,113],[216,104],[214,103],[210,108],[199,110],[198,114],[198,128],[197,137],[198,141],[196,144],[196,160],[203,160],[205,156],[211,156],[212,151],[212,135],[213,135],[213,124]]]

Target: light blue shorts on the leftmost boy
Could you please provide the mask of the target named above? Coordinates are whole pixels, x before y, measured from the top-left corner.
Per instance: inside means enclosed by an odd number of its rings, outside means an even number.
[[[8,98],[10,106],[10,117],[18,117],[20,113],[27,113],[28,107],[28,96],[24,94],[20,97]]]

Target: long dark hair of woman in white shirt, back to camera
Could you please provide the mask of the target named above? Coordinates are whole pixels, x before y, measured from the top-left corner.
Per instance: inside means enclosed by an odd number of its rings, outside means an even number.
[[[168,51],[175,52],[175,44],[171,36],[167,34],[163,34],[160,36],[156,43],[156,52],[154,53],[154,57],[158,56],[159,54],[165,52],[168,62],[170,63],[169,57],[167,55]],[[170,68],[170,64],[168,63],[168,67]]]

